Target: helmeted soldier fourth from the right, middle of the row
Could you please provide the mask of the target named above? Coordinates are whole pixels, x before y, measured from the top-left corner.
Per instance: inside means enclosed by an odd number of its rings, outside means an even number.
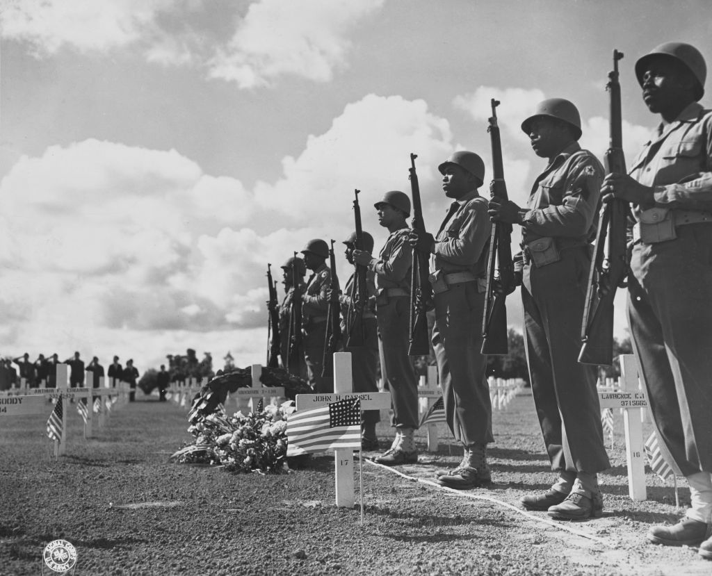
[[[370,250],[356,250],[355,262],[376,276],[378,331],[383,343],[384,372],[391,393],[391,426],[396,437],[376,462],[394,466],[418,461],[414,432],[418,427],[418,382],[408,356],[410,272],[413,251],[408,244],[410,198],[392,190],[375,203],[378,223],[389,231],[377,258]]]

